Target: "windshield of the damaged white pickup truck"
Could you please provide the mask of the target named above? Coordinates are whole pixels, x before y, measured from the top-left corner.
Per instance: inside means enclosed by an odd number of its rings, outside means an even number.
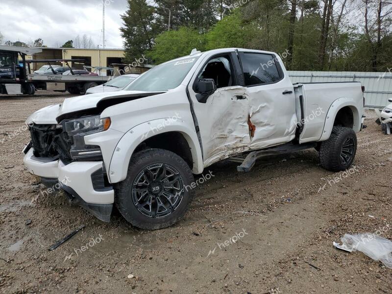
[[[129,84],[126,91],[165,92],[177,88],[199,56],[176,59],[158,65]]]

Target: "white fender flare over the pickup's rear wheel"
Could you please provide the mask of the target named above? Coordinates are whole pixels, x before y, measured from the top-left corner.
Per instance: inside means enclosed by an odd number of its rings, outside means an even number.
[[[322,130],[321,137],[318,142],[320,141],[326,141],[329,139],[332,133],[332,128],[335,123],[336,116],[343,107],[350,107],[353,113],[353,119],[354,119],[354,125],[353,129],[355,132],[358,132],[361,129],[361,119],[359,117],[359,110],[356,106],[356,102],[353,98],[347,98],[347,97],[341,97],[336,99],[331,106],[329,107],[325,123],[324,123],[324,128]]]

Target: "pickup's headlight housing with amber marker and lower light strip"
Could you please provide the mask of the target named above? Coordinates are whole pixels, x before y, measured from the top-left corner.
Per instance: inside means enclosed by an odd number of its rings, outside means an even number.
[[[99,146],[86,145],[84,137],[106,131],[110,127],[110,118],[101,119],[99,115],[88,116],[65,122],[65,131],[71,138],[70,154],[73,159],[101,157]]]

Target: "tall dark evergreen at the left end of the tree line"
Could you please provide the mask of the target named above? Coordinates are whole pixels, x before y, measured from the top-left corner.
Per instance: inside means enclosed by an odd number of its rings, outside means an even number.
[[[157,22],[155,7],[146,0],[128,0],[128,10],[121,16],[121,35],[125,39],[124,62],[131,63],[144,52],[152,49],[155,37],[164,28]]]

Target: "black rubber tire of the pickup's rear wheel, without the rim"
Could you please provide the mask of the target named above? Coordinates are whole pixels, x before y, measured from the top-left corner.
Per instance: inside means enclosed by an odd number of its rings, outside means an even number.
[[[353,155],[347,162],[341,158],[343,144],[352,138]],[[334,126],[331,136],[320,145],[319,159],[321,166],[331,172],[341,172],[347,170],[353,163],[357,152],[357,136],[352,128]]]

